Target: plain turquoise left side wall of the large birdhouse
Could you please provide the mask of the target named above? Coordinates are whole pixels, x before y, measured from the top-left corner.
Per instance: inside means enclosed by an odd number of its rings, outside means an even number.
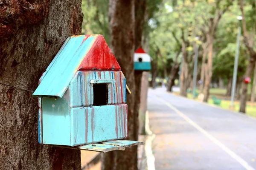
[[[70,145],[70,91],[61,99],[42,98],[43,143]]]

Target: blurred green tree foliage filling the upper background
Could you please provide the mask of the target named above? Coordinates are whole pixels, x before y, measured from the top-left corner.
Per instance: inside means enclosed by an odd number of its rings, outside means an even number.
[[[237,16],[241,15],[238,1],[147,0],[143,36],[149,37],[149,54],[157,63],[160,77],[163,76],[164,67],[168,73],[171,70],[177,53],[181,51],[182,40],[189,42],[186,48],[189,54],[193,53],[195,44],[199,46],[198,65],[201,66],[203,50],[201,45],[206,42],[209,21],[230,4],[232,6],[222,15],[218,23],[213,45],[213,75],[223,78],[233,75],[236,37],[238,27],[241,25],[237,20]],[[249,31],[255,25],[255,9],[254,0],[247,0],[244,10]],[[109,43],[108,0],[82,0],[82,11],[84,13],[82,34],[103,34]],[[244,74],[247,65],[247,49],[242,40],[243,37],[240,40],[238,76]],[[181,60],[180,53],[177,62]]]

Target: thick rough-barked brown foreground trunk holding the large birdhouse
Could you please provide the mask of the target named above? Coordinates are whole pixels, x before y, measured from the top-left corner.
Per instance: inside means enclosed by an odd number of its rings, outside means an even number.
[[[66,38],[81,34],[81,0],[19,2],[6,1],[0,14],[0,83],[16,86],[0,84],[0,169],[81,169],[80,150],[38,143],[32,97]]]

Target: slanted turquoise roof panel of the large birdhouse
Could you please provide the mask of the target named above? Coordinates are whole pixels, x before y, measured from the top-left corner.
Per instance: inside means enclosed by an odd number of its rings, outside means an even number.
[[[64,95],[84,56],[96,40],[96,36],[90,36],[85,41],[84,38],[85,36],[70,37],[55,61],[49,65],[49,70],[33,96],[61,98]]]

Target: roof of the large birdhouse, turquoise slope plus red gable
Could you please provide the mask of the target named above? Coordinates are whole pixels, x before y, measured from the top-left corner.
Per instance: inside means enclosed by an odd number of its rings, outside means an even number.
[[[121,68],[102,35],[68,37],[48,66],[33,96],[61,98],[77,71],[119,71]]]

